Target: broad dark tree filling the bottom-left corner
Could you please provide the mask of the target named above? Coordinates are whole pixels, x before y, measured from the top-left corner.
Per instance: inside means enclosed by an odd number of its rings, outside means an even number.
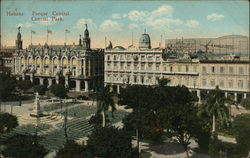
[[[6,146],[2,152],[4,157],[43,158],[48,153],[32,135],[16,134],[7,139],[4,145]]]

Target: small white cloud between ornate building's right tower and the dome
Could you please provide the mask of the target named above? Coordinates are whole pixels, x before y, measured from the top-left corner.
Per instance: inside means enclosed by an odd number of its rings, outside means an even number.
[[[122,29],[122,24],[108,19],[108,20],[105,20],[100,25],[100,29],[102,31],[120,31]]]

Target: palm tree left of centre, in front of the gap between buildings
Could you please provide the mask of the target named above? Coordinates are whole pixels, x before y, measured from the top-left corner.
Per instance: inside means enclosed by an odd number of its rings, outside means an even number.
[[[97,94],[97,112],[102,114],[102,127],[106,126],[106,111],[111,107],[112,117],[116,110],[114,100],[110,88],[107,86],[104,90]]]

